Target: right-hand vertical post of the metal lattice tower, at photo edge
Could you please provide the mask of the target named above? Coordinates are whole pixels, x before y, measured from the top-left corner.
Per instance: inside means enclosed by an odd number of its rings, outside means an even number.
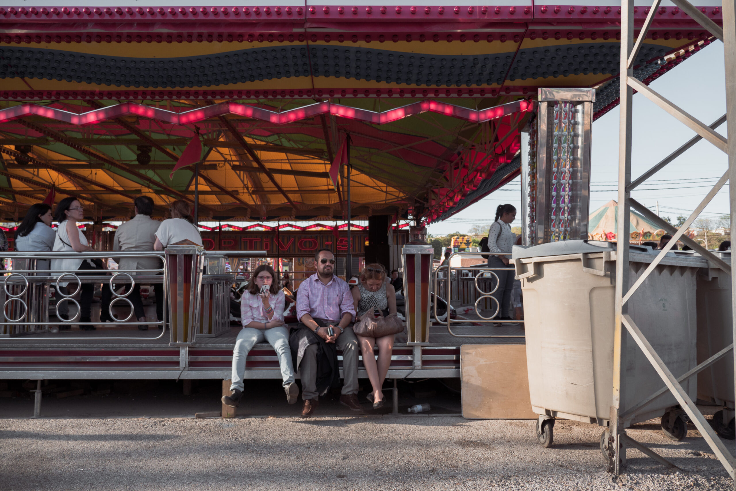
[[[726,68],[726,119],[736,121],[736,0],[723,0],[723,58]],[[727,132],[731,230],[736,230],[736,124],[729,124]],[[736,275],[731,275],[731,294],[733,336],[736,342]],[[736,350],[734,362],[736,367]],[[736,489],[736,482],[734,487]]]

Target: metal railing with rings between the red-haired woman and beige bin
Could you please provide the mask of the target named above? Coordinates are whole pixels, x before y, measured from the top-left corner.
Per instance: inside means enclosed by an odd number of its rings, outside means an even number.
[[[453,300],[453,283],[456,285],[456,292],[457,295],[454,297],[456,300],[460,300],[461,296],[464,294],[468,298],[475,297],[475,301],[473,302],[473,310],[475,311],[475,314],[479,317],[479,319],[473,319],[473,322],[481,322],[485,324],[498,324],[500,322],[503,322],[504,324],[523,324],[523,320],[508,320],[508,319],[496,319],[495,317],[498,316],[498,314],[501,313],[501,305],[498,303],[498,300],[496,300],[495,297],[493,297],[493,294],[498,290],[500,287],[500,281],[498,280],[498,275],[495,273],[496,271],[509,271],[512,272],[514,275],[515,269],[514,266],[509,266],[508,268],[495,268],[495,267],[489,267],[487,265],[473,265],[473,266],[450,266],[450,263],[452,261],[452,258],[455,256],[470,256],[470,257],[480,257],[481,255],[509,255],[511,256],[511,252],[495,252],[491,254],[490,252],[453,252],[453,254],[450,255],[450,258],[447,259],[447,264],[443,266],[439,266],[434,271],[434,283],[433,283],[433,292],[436,297],[439,297],[440,292],[440,281],[444,282],[444,289],[443,293],[445,293],[445,298],[442,300],[445,300],[447,303],[447,332],[450,333],[450,336],[455,336],[457,338],[523,338],[526,337],[524,334],[456,334],[453,333],[452,325],[453,324],[467,324],[467,320],[457,320],[457,319],[450,319],[449,311],[450,311],[450,302]],[[475,275],[471,273],[470,276],[462,276],[461,271],[469,271],[469,272],[477,272]],[[444,272],[444,278],[440,278],[440,273]],[[453,278],[453,272],[456,272],[455,278]],[[490,290],[489,292],[484,291],[481,289],[481,286],[478,285],[478,280],[481,281],[481,284],[483,286],[491,286],[493,283],[495,283],[495,288]],[[460,286],[462,283],[473,283],[473,289],[464,289],[464,292],[460,291]],[[477,295],[476,295],[477,294]],[[496,304],[495,312],[490,316],[486,317],[484,316],[481,311],[485,310],[483,308],[478,308],[478,303],[483,302],[484,305],[492,305],[494,302]],[[434,302],[434,317],[435,319],[439,319],[437,315],[437,304],[439,302]],[[470,303],[470,302],[468,302]],[[487,309],[491,310],[491,309]]]

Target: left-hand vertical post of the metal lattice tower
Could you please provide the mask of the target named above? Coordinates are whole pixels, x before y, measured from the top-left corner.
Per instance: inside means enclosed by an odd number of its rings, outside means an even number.
[[[624,407],[621,375],[624,366],[623,353],[626,339],[623,336],[623,292],[629,288],[629,184],[631,183],[631,98],[634,95],[627,77],[634,76],[629,68],[629,57],[634,46],[634,0],[621,0],[621,53],[620,53],[620,116],[618,128],[618,228],[616,230],[616,291],[613,334],[613,400],[610,414],[610,444],[613,445],[613,462],[609,469],[620,476],[626,464],[626,447],[623,420],[620,411]]]

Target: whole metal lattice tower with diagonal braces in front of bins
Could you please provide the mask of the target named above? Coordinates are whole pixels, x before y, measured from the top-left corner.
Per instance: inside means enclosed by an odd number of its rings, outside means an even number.
[[[643,445],[635,442],[631,437],[626,435],[624,427],[626,426],[627,414],[623,413],[623,408],[626,407],[623,401],[623,387],[622,387],[622,367],[625,366],[626,360],[622,360],[622,353],[625,353],[625,344],[627,337],[625,333],[628,332],[630,338],[637,344],[637,346],[643,351],[648,361],[657,370],[657,373],[665,382],[667,389],[672,392],[673,396],[679,402],[680,406],[690,420],[696,425],[698,431],[710,445],[710,448],[718,457],[718,460],[726,468],[729,475],[734,477],[734,458],[731,452],[723,445],[721,438],[715,434],[715,431],[711,428],[710,424],[707,423],[701,412],[697,409],[693,400],[691,400],[687,392],[682,389],[680,382],[687,377],[695,375],[697,372],[704,370],[707,367],[721,358],[722,356],[735,357],[736,352],[733,350],[733,344],[721,352],[716,353],[714,356],[699,364],[690,372],[685,373],[679,378],[673,376],[672,372],[668,370],[668,367],[662,362],[657,352],[653,349],[650,342],[643,336],[640,328],[637,327],[636,323],[631,319],[627,313],[626,302],[631,298],[632,295],[636,294],[637,288],[642,285],[648,275],[657,267],[662,258],[665,257],[667,252],[676,244],[676,241],[681,240],[685,244],[690,245],[694,250],[699,252],[705,258],[718,264],[721,269],[726,271],[729,275],[731,274],[731,266],[726,262],[721,261],[721,258],[716,257],[711,252],[708,252],[696,244],[692,239],[688,239],[683,233],[690,227],[693,221],[708,205],[715,194],[723,187],[726,180],[730,180],[729,191],[730,191],[730,211],[731,211],[731,227],[732,230],[736,227],[736,125],[729,124],[728,127],[728,138],[723,138],[722,135],[715,133],[714,128],[718,127],[724,119],[736,121],[736,0],[724,0],[723,1],[723,29],[718,27],[713,21],[706,17],[701,10],[693,7],[687,0],[671,0],[677,7],[682,11],[690,15],[691,18],[696,20],[698,24],[701,24],[704,29],[707,29],[712,33],[715,38],[718,38],[723,42],[724,45],[724,58],[726,64],[726,115],[723,118],[718,119],[715,123],[708,126],[707,124],[698,121],[684,110],[680,109],[673,102],[668,101],[657,92],[653,91],[648,86],[634,78],[634,61],[637,57],[637,52],[646,38],[646,33],[654,20],[654,15],[659,9],[661,0],[654,0],[651,10],[649,10],[648,16],[644,22],[643,27],[640,29],[639,36],[634,42],[634,0],[622,0],[621,2],[621,50],[620,50],[620,66],[621,66],[621,83],[620,83],[620,120],[619,120],[619,166],[618,166],[618,247],[617,247],[617,261],[616,261],[616,290],[615,290],[615,333],[614,333],[614,376],[613,376],[613,405],[611,406],[611,427],[609,429],[609,456],[611,461],[609,462],[612,472],[615,475],[619,475],[623,470],[623,465],[626,463],[626,447],[631,446],[643,451],[648,456],[657,459],[659,462],[669,464],[661,456],[657,455],[653,451],[645,448]],[[648,170],[638,177],[636,180],[631,180],[631,109],[633,104],[633,91],[636,90],[645,96],[647,99],[654,102],[656,105],[667,111],[670,116],[675,117],[691,130],[698,134],[698,137],[693,138],[690,142],[685,144],[680,149],[673,152],[668,158],[662,160],[652,169]],[[680,155],[684,149],[690,148],[696,141],[701,138],[709,141],[711,144],[717,146],[723,152],[726,152],[729,156],[729,168],[723,173],[723,176],[718,183],[713,186],[706,197],[697,206],[696,210],[687,218],[682,227],[675,230],[675,227],[669,225],[662,219],[659,219],[654,213],[648,211],[643,205],[634,199],[631,199],[631,191],[643,183],[646,179],[654,175],[654,173],[663,169],[670,161]],[[634,208],[640,213],[644,213],[648,219],[658,223],[663,229],[671,231],[673,238],[669,241],[667,246],[663,248],[657,258],[647,267],[643,275],[637,279],[637,281],[629,288],[629,241],[626,240],[629,237],[629,209]],[[732,275],[732,294],[736,292],[736,278]],[[628,288],[628,290],[627,290]],[[732,299],[733,300],[733,299]],[[734,308],[736,308],[736,300],[732,302]],[[736,320],[736,311],[734,311],[733,319]],[[734,336],[736,339],[736,323],[734,324]],[[662,390],[665,392],[665,389]],[[653,396],[654,397],[654,396]],[[641,403],[640,403],[641,404]],[[637,404],[637,406],[640,406]],[[628,413],[631,410],[627,411]]]

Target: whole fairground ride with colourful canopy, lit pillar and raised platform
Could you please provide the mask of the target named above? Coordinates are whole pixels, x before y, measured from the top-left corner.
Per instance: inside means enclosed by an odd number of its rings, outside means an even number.
[[[205,247],[151,252],[163,267],[135,276],[171,294],[160,331],[128,320],[121,286],[131,279],[118,269],[62,281],[112,289],[119,322],[52,332],[54,301],[74,304],[73,294],[51,300],[60,278],[39,263],[54,253],[5,252],[13,274],[0,289],[0,379],[38,380],[40,411],[48,379],[230,378],[239,328],[230,287],[268,261],[298,290],[314,251],[328,247],[344,278],[370,262],[400,269],[408,342],[394,348],[389,378],[458,379],[461,364],[511,364],[491,370],[512,374],[495,395],[483,392],[486,379],[463,375],[464,414],[537,418],[528,399],[503,403],[528,381],[525,321],[497,319],[498,271],[483,270],[481,252],[435,270],[440,251],[425,227],[521,175],[522,244],[588,239],[592,121],[628,90],[622,72],[649,94],[653,80],[723,38],[721,8],[5,1],[0,219],[9,239],[29,205],[76,197],[95,248],[82,255],[107,261],[120,255],[108,252],[116,226],[145,195],[156,219],[175,199],[191,203]],[[592,238],[615,241],[605,215]],[[669,231],[645,218],[647,230],[629,233]],[[523,260],[515,266],[520,274]],[[252,350],[246,376],[280,378],[270,346]]]

